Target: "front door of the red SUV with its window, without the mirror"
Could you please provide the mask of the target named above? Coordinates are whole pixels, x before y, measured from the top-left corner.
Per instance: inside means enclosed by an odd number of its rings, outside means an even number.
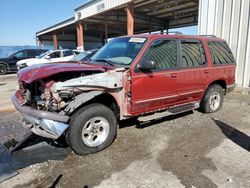
[[[177,50],[175,39],[157,39],[146,50],[141,61],[154,61],[156,69],[142,72],[135,68],[132,76],[133,114],[166,108],[178,101]]]

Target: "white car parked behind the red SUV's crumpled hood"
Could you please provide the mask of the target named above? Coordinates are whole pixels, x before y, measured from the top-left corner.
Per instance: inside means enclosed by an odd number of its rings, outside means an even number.
[[[17,69],[19,70],[24,67],[29,67],[37,64],[69,61],[75,56],[76,54],[72,50],[50,50],[37,56],[36,58],[20,60],[16,65]]]

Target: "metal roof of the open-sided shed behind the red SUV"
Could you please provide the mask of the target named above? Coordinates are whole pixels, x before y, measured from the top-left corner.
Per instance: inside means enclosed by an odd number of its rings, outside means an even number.
[[[131,1],[90,0],[75,9],[74,17],[37,32],[37,36],[51,35],[52,32],[73,34],[76,21],[83,21],[86,35],[100,36],[103,33],[105,20],[108,24],[109,37],[126,35],[127,14],[125,8]],[[134,33],[198,24],[199,0],[134,0],[133,2]]]

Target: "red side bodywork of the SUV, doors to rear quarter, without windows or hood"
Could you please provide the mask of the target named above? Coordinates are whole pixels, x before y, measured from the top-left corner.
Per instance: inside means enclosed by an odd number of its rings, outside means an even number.
[[[132,116],[167,109],[173,105],[199,102],[206,88],[212,82],[223,80],[227,85],[235,82],[236,65],[215,66],[212,63],[207,41],[224,41],[222,39],[183,35],[140,36],[147,37],[148,41],[131,65],[132,101],[131,109],[128,109],[128,111]],[[207,65],[205,67],[182,68],[152,73],[136,73],[136,65],[152,42],[164,38],[200,40],[205,50]]]

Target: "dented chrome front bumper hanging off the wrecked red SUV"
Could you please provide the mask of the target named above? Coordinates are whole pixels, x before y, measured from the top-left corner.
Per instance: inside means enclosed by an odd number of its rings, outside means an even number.
[[[16,96],[12,97],[12,103],[23,116],[22,125],[39,136],[57,139],[69,127],[69,116],[22,106]]]

